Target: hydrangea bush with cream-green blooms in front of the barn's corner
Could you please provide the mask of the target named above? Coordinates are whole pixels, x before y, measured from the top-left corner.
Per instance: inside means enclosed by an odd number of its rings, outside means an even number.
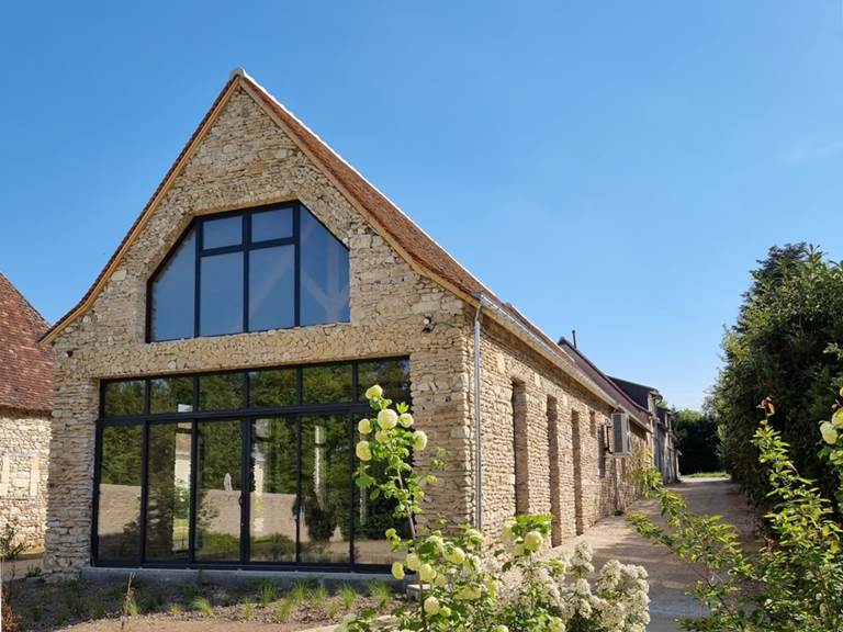
[[[395,519],[407,521],[409,538],[395,529],[386,538],[403,557],[392,565],[393,576],[412,576],[418,598],[403,601],[385,620],[374,610],[349,617],[338,632],[644,631],[650,620],[645,571],[611,561],[589,582],[594,566],[586,543],[577,544],[570,558],[543,554],[550,517],[513,518],[496,544],[469,526],[422,528],[420,503],[436,476],[417,472],[412,454],[428,448],[427,436],[414,428],[408,407],[393,407],[380,386],[366,397],[375,417],[358,425],[356,481],[372,499],[392,499]],[[441,469],[441,454],[430,463],[434,471]]]

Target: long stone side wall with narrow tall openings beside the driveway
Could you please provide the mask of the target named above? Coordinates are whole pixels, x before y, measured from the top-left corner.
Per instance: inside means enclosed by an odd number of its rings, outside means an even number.
[[[628,474],[634,451],[644,453],[642,429],[633,431],[632,455],[609,454],[603,433],[611,406],[490,319],[482,357],[482,503],[491,534],[517,510],[553,516],[559,542],[638,496]]]

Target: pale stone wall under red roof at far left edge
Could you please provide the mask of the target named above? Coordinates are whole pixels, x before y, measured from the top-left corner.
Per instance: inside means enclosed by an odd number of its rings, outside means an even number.
[[[0,529],[13,524],[29,548],[44,544],[49,419],[0,410]]]

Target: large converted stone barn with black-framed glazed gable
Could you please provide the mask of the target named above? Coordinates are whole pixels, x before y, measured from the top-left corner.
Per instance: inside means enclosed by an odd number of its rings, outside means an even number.
[[[44,343],[54,573],[385,568],[392,507],[352,483],[374,383],[447,450],[428,515],[495,533],[521,512],[552,515],[554,544],[582,531],[652,443],[240,70]]]

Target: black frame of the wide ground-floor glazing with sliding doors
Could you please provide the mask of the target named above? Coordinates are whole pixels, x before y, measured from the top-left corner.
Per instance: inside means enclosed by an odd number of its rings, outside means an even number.
[[[299,453],[297,461],[301,463],[301,424],[302,419],[306,417],[315,417],[321,415],[337,415],[347,418],[349,428],[349,441],[351,444],[350,450],[350,464],[351,471],[357,469],[357,456],[355,454],[353,445],[358,440],[357,420],[362,416],[373,415],[369,402],[360,392],[360,385],[358,383],[359,366],[371,361],[400,361],[405,362],[407,366],[407,377],[409,387],[409,357],[396,356],[376,359],[361,359],[355,361],[337,361],[337,362],[319,362],[312,364],[297,364],[297,365],[273,365],[273,366],[249,366],[245,369],[224,370],[224,371],[203,371],[189,374],[150,374],[144,376],[126,376],[121,379],[108,379],[101,380],[99,385],[100,403],[99,403],[99,417],[97,419],[95,430],[95,445],[94,445],[94,467],[93,467],[93,493],[91,505],[91,530],[90,530],[90,564],[97,567],[111,567],[111,568],[243,568],[243,569],[267,569],[267,571],[307,571],[318,569],[325,572],[352,572],[352,573],[385,573],[389,571],[389,564],[367,564],[359,563],[355,558],[356,538],[355,530],[357,527],[357,520],[351,520],[350,537],[349,537],[349,562],[338,563],[324,563],[324,562],[301,562],[300,542],[296,539],[296,561],[295,562],[266,562],[266,561],[250,561],[250,496],[251,496],[251,447],[252,447],[252,422],[257,419],[265,418],[286,418],[293,419],[296,424],[297,437],[299,437]],[[335,366],[335,365],[351,365],[351,399],[341,403],[329,404],[304,404],[303,403],[303,372],[305,369],[321,368],[321,366]],[[288,406],[277,407],[262,407],[251,408],[249,407],[250,396],[249,386],[251,382],[250,373],[265,370],[278,370],[278,369],[292,369],[296,373],[296,403]],[[200,377],[206,375],[220,375],[241,373],[244,375],[244,393],[243,403],[244,408],[226,409],[226,410],[200,410],[199,409],[199,383]],[[193,409],[183,413],[167,411],[167,413],[149,413],[150,410],[150,383],[154,380],[161,377],[191,377],[193,381]],[[105,416],[105,388],[108,384],[114,382],[123,382],[128,380],[137,380],[144,382],[143,406],[144,413],[142,415],[124,415],[115,417]],[[409,391],[408,391],[409,394]],[[397,395],[397,394],[396,394]],[[409,399],[409,397],[408,397]],[[412,404],[412,402],[407,402]],[[196,440],[199,425],[203,421],[224,421],[234,420],[240,421],[240,432],[243,438],[241,449],[241,469],[240,469],[240,554],[238,561],[233,562],[201,562],[195,560],[195,530],[196,530],[196,484],[198,484],[198,467],[194,462],[196,458]],[[146,556],[146,539],[147,539],[147,506],[148,506],[148,477],[149,477],[149,428],[157,424],[166,422],[189,422],[191,424],[192,432],[192,449],[191,449],[191,495],[190,495],[190,531],[189,531],[189,552],[188,562],[147,562]],[[140,481],[140,516],[139,516],[139,560],[137,561],[109,561],[99,558],[99,537],[98,537],[98,523],[99,523],[99,501],[100,501],[100,478],[102,470],[102,435],[103,429],[106,427],[127,427],[127,426],[140,426],[142,428],[142,481]],[[301,486],[301,469],[300,469],[300,486]],[[353,478],[349,482],[351,494],[351,507],[355,507],[359,501],[360,490],[353,482]],[[301,487],[300,487],[301,489]],[[352,514],[353,515],[353,514]],[[299,527],[296,527],[296,531]]]

